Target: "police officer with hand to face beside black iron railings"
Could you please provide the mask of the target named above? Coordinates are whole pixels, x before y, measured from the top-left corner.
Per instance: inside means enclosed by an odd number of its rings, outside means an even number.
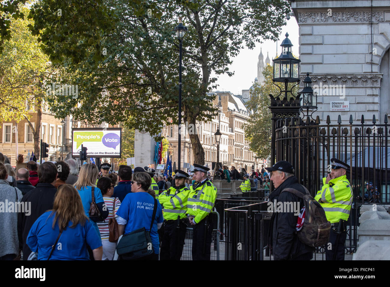
[[[314,199],[321,204],[326,219],[332,224],[330,244],[328,243],[325,248],[326,260],[344,260],[346,222],[351,211],[353,191],[346,175],[349,165],[337,158],[332,158],[330,161],[332,171],[322,179],[324,185]]]

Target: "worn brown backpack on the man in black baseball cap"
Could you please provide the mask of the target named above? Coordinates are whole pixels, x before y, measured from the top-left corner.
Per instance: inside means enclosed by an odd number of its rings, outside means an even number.
[[[305,188],[303,186],[303,188]],[[328,243],[330,235],[330,221],[326,219],[325,211],[317,200],[315,200],[305,188],[306,194],[294,188],[285,188],[282,192],[287,191],[295,196],[302,198],[305,206],[303,218],[300,214],[298,221],[302,221],[301,229],[297,231],[298,239],[309,246],[317,247]],[[282,193],[281,192],[281,193]]]

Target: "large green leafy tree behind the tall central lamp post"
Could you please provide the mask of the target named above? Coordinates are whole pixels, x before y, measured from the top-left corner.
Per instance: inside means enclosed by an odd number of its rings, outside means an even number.
[[[77,98],[51,98],[57,116],[123,122],[157,135],[168,119],[177,124],[178,16],[188,28],[183,122],[195,125],[216,114],[215,96],[206,95],[217,87],[211,73],[232,76],[231,58],[245,45],[276,40],[290,9],[287,0],[41,0],[29,17],[44,51],[60,64],[55,81],[78,85]],[[198,135],[190,139],[195,161],[204,163]]]

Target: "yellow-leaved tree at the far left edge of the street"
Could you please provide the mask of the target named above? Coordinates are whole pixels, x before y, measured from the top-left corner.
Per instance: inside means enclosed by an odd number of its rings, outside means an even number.
[[[18,10],[28,14],[23,6]],[[42,100],[45,91],[44,80],[51,73],[49,57],[43,53],[37,36],[31,35],[28,25],[30,19],[12,18],[9,23],[9,40],[2,45],[0,54],[0,122],[22,119],[27,120],[34,138],[34,150],[39,157],[39,136],[42,118]],[[0,21],[1,23],[1,21]],[[26,101],[30,112],[37,112],[35,126],[30,122],[31,113],[26,109]]]

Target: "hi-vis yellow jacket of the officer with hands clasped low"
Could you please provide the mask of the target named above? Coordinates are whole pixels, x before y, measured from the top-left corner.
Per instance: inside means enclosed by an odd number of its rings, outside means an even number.
[[[193,219],[195,223],[199,223],[213,211],[216,197],[217,189],[209,180],[206,180],[200,185],[195,184],[195,186],[190,186],[187,213],[195,216]]]

